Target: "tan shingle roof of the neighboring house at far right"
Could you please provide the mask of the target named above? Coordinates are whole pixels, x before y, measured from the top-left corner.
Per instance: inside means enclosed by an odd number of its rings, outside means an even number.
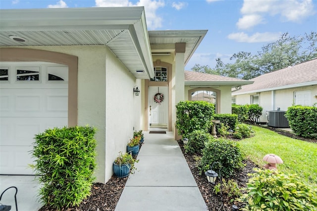
[[[317,58],[251,79],[253,84],[245,85],[234,93],[246,94],[253,91],[270,91],[317,84]]]

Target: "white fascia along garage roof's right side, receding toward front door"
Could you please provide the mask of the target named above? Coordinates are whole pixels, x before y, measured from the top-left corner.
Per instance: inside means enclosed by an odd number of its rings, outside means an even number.
[[[133,27],[130,27],[129,31],[131,38],[134,41],[133,43],[135,48],[142,60],[144,70],[146,71],[149,79],[154,78],[154,66],[144,11],[142,12],[139,21],[135,22]]]

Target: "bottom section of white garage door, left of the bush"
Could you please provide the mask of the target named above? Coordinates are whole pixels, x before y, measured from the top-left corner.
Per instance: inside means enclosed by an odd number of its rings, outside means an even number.
[[[0,174],[34,174],[29,164],[34,164],[30,152],[32,147],[1,146]]]

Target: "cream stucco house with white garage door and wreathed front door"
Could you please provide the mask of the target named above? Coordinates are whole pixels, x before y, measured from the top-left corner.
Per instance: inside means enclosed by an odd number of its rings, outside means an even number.
[[[0,10],[0,174],[33,173],[35,134],[89,124],[105,183],[133,131],[175,131],[175,105],[192,92],[215,92],[230,113],[231,87],[253,82],[184,74],[206,33],[148,31],[144,7]]]

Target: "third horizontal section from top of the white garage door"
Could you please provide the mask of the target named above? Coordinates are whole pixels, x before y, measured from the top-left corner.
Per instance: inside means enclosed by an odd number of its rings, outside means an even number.
[[[1,118],[1,146],[30,146],[38,133],[48,128],[67,126],[67,117]]]

